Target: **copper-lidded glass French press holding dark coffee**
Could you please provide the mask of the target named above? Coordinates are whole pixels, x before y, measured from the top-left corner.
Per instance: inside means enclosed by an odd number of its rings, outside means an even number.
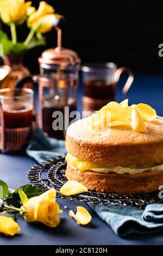
[[[62,47],[62,28],[64,18],[58,18],[57,47],[49,48],[39,57],[39,116],[38,123],[49,137],[65,138],[65,132],[77,110],[77,93],[79,83],[80,59],[78,54]],[[26,77],[27,78],[27,77]],[[24,82],[26,81],[24,78]],[[32,78],[30,78],[32,79]],[[17,82],[17,87],[23,86],[23,80]],[[67,121],[68,118],[68,121]]]

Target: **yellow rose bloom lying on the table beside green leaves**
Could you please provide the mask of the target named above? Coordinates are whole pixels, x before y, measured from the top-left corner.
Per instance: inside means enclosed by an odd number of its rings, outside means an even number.
[[[49,227],[57,227],[60,222],[57,214],[61,214],[59,205],[55,202],[54,188],[38,197],[32,197],[21,207],[21,214],[27,222],[42,222]]]

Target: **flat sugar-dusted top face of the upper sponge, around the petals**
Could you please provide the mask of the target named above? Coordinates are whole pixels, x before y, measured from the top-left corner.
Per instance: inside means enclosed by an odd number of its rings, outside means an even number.
[[[88,118],[71,124],[67,129],[67,137],[74,141],[108,147],[123,145],[139,145],[163,143],[163,118],[156,117],[152,122],[145,122],[144,132],[135,132],[130,126],[114,126],[107,129],[93,130],[87,125]]]

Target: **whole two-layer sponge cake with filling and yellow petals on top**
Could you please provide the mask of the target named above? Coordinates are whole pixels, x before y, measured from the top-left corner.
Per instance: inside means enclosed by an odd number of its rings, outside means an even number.
[[[76,121],[66,149],[67,179],[89,190],[145,193],[163,185],[163,118],[146,104],[110,102]]]

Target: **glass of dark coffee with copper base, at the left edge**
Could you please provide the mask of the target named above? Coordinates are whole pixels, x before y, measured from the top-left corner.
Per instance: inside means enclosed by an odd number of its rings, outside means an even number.
[[[28,144],[32,133],[33,109],[33,90],[0,90],[1,150],[20,150]]]

